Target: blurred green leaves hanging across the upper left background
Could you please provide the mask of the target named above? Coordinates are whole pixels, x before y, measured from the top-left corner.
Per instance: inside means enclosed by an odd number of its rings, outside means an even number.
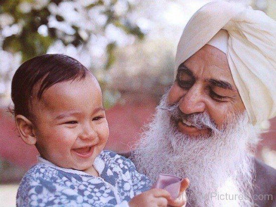
[[[75,33],[73,35],[64,34],[57,28],[50,28],[48,25],[49,17],[51,12],[49,11],[49,4],[56,4],[57,6],[63,1],[55,0],[49,1],[42,8],[32,7],[29,11],[22,11],[20,6],[25,3],[29,5],[36,4],[36,1],[32,0],[2,0],[0,3],[1,14],[8,14],[14,18],[14,23],[19,25],[21,31],[18,34],[5,37],[3,41],[3,50],[16,53],[21,52],[22,61],[26,61],[34,56],[45,54],[47,49],[56,40],[61,40],[64,45],[72,44],[75,47],[87,43],[87,39],[83,39],[79,34],[81,28],[76,25],[71,25]],[[67,1],[74,3],[74,1]],[[130,11],[131,5],[127,3],[128,10],[125,14],[118,16],[114,12],[114,6],[118,1],[111,1],[110,4],[106,4],[104,1],[99,0],[94,4],[83,7],[84,11],[97,7],[103,6],[105,9],[103,14],[107,17],[106,23],[99,28],[97,31],[91,30],[86,31],[88,35],[97,35],[97,33],[103,33],[104,29],[108,24],[113,24],[114,26],[122,29],[126,34],[134,35],[138,39],[143,39],[144,34],[141,32],[140,28],[136,25],[131,25],[127,20],[126,14]],[[62,14],[54,15],[58,22],[64,22],[64,17]],[[47,26],[48,35],[43,36],[38,33],[38,28],[42,25]],[[2,30],[2,29],[0,29]],[[1,32],[1,31],[0,31]],[[114,49],[116,48],[116,43],[110,43],[106,47],[107,53],[107,63],[105,68],[108,69],[115,60]]]

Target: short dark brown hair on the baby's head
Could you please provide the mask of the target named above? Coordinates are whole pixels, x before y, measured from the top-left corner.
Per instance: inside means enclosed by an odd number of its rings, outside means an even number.
[[[16,71],[12,81],[12,100],[16,116],[31,118],[31,101],[41,99],[43,92],[56,83],[84,79],[90,71],[79,61],[62,54],[37,56],[24,62]],[[40,83],[38,85],[38,83]],[[34,90],[35,86],[38,90]],[[34,94],[35,92],[35,94]]]

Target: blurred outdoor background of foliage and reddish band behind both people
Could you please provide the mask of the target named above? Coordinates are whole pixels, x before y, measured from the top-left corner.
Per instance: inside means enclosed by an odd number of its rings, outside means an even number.
[[[0,206],[15,206],[18,184],[37,150],[15,128],[11,80],[22,62],[45,53],[79,60],[99,80],[110,137],[129,151],[173,82],[178,40],[208,0],[2,0],[0,2]],[[275,0],[236,0],[276,20]],[[276,119],[257,157],[276,168]]]

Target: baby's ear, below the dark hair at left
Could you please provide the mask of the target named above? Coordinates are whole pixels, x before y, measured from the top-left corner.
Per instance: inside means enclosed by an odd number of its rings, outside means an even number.
[[[17,130],[20,133],[20,136],[22,140],[29,145],[35,145],[37,142],[37,138],[33,132],[34,130],[34,125],[33,123],[27,119],[23,115],[16,115],[16,126]]]

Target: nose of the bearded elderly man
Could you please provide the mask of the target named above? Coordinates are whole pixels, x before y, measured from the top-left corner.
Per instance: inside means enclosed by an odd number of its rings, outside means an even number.
[[[204,112],[206,104],[200,86],[193,85],[181,97],[179,108],[185,114]]]

